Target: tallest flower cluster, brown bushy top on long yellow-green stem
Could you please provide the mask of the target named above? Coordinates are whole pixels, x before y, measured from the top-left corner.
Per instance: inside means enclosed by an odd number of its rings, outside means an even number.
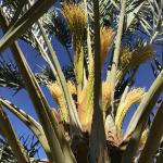
[[[80,100],[84,77],[84,34],[87,25],[85,11],[76,4],[64,3],[63,12],[71,28],[74,47],[74,67],[77,82],[77,98]]]

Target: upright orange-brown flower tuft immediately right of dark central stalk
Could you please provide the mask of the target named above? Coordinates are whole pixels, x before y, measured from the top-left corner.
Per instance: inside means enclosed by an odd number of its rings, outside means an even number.
[[[101,63],[103,64],[106,54],[110,50],[111,42],[114,36],[114,32],[111,28],[102,27],[100,29],[100,41],[101,41]]]

